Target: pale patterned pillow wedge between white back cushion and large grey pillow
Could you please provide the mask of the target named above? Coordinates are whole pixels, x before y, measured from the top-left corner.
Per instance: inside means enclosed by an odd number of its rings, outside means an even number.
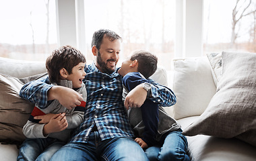
[[[212,77],[217,87],[218,81],[222,76],[222,53],[207,54],[207,58],[211,64]]]

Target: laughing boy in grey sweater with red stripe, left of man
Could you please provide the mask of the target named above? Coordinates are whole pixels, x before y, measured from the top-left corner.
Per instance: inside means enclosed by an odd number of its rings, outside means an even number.
[[[69,87],[83,97],[77,107],[68,110],[57,100],[50,101],[45,109],[34,107],[23,127],[26,140],[23,142],[18,160],[50,160],[51,156],[69,140],[72,129],[84,119],[86,87],[82,80],[86,76],[85,56],[71,46],[54,50],[46,60],[49,80],[53,85]],[[47,115],[41,119],[40,115]]]

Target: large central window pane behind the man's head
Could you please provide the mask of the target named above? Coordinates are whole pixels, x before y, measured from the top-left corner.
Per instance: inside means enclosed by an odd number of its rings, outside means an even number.
[[[123,38],[119,63],[133,50],[148,50],[170,70],[174,57],[175,0],[85,0],[86,58],[93,59],[92,34],[101,28]]]

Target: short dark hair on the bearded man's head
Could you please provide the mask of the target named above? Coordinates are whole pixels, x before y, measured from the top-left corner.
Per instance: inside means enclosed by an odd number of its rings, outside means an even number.
[[[106,36],[111,42],[114,40],[122,40],[122,38],[115,32],[111,30],[106,30],[106,29],[100,29],[96,32],[94,32],[92,36],[92,46],[96,46],[98,50],[100,50],[100,45],[102,44],[102,39]]]

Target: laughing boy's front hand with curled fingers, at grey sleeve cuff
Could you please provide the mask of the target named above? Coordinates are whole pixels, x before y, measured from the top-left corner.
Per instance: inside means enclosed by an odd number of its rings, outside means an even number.
[[[46,125],[44,125],[43,133],[44,136],[48,135],[49,133],[63,131],[67,128],[67,119],[65,117],[65,113],[60,113],[56,117],[52,117]]]

